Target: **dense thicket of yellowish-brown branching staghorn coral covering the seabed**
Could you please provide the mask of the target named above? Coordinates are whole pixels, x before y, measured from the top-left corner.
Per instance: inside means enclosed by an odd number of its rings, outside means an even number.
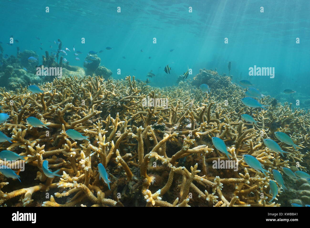
[[[160,89],[131,76],[85,76],[55,78],[42,88],[47,92],[0,91],[0,103],[10,113],[0,130],[13,138],[0,145],[27,157],[25,170],[17,170],[21,184],[1,175],[0,204],[14,205],[17,198],[24,206],[280,206],[267,203],[272,175],[250,168],[242,155],[255,156],[269,172],[296,162],[303,171],[309,167],[309,112],[288,104],[247,108],[239,101],[242,88],[231,83],[206,94],[184,82]],[[168,109],[144,106],[146,97],[168,98]],[[259,124],[243,123],[242,113]],[[31,127],[29,116],[49,123],[50,130]],[[291,152],[282,157],[263,145],[263,138],[274,139],[267,127],[272,121],[292,136],[298,151],[279,143]],[[90,141],[71,140],[68,129]],[[213,161],[228,161],[212,145],[213,136],[225,141],[237,170],[213,167]],[[62,177],[42,173],[45,159]],[[99,179],[98,163],[109,173],[111,190]],[[277,199],[281,194],[280,188]]]

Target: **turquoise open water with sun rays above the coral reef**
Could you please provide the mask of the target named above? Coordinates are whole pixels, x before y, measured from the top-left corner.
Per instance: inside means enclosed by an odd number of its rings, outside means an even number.
[[[45,7],[50,7],[49,13]],[[188,7],[193,7],[192,13]],[[131,74],[146,80],[146,74],[153,70],[156,77],[150,78],[152,86],[175,84],[187,66],[193,69],[190,78],[201,68],[217,68],[219,74],[228,74],[231,61],[233,81],[240,80],[242,73],[241,79],[271,95],[286,88],[309,95],[309,11],[308,0],[1,0],[0,41],[7,54],[15,55],[19,46],[21,51],[34,50],[42,56],[45,50],[50,51],[48,41],[60,38],[71,51],[75,45],[83,52],[78,56],[80,61],[74,60],[72,52],[66,56],[70,65],[78,66],[83,65],[88,51],[104,50],[98,56],[101,65],[112,70],[113,78]],[[19,43],[6,45],[10,35]],[[82,37],[85,44],[81,44]],[[224,43],[226,37],[228,44]],[[297,37],[300,44],[296,44]],[[169,63],[170,75],[163,71]],[[275,67],[275,78],[248,76],[249,67],[254,65]],[[116,74],[118,68],[121,75]]]

